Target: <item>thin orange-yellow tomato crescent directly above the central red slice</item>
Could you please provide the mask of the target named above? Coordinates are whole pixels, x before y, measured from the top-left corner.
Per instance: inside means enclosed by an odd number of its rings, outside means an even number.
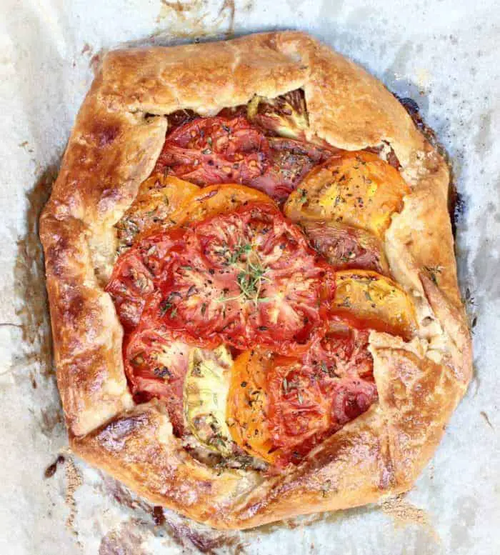
[[[238,184],[216,184],[197,189],[185,199],[172,218],[181,224],[199,221],[216,214],[230,212],[246,202],[275,204],[261,191]]]

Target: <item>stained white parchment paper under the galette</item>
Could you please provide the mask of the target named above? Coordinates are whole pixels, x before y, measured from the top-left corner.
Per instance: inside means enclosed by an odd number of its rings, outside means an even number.
[[[1,0],[0,11],[0,554],[500,553],[499,2]],[[411,96],[448,149],[476,374],[404,498],[221,534],[163,514],[68,451],[36,221],[101,49],[287,28]]]

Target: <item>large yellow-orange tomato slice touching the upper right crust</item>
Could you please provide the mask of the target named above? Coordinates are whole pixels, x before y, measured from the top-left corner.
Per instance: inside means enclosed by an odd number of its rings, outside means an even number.
[[[345,152],[310,171],[289,196],[284,213],[294,221],[343,222],[383,238],[409,192],[399,171],[376,154]]]

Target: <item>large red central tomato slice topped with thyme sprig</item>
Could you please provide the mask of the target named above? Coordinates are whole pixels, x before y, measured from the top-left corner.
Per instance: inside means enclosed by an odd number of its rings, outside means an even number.
[[[156,288],[142,301],[141,322],[163,326],[176,339],[288,352],[306,349],[326,325],[334,294],[331,268],[271,204],[246,204],[154,234],[132,251]],[[112,291],[127,276],[122,267],[119,259]]]

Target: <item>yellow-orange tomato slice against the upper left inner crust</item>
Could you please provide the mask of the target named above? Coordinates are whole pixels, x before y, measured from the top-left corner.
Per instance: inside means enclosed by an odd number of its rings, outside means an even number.
[[[141,183],[136,199],[116,224],[122,244],[131,245],[138,234],[177,224],[172,217],[199,186],[174,176],[154,174]]]

